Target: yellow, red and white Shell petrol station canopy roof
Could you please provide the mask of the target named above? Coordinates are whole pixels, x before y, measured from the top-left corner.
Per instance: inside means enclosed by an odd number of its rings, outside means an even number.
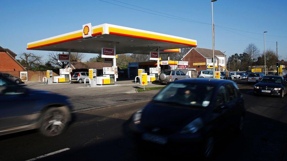
[[[101,48],[116,47],[116,54],[149,54],[159,47],[159,53],[164,54],[197,46],[196,40],[107,23],[91,28],[90,38],[83,38],[83,28],[28,43],[27,50],[101,53]]]

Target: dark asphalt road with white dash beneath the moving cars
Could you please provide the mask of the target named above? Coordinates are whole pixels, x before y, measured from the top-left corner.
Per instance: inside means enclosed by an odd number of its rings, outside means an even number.
[[[253,96],[252,85],[237,84],[245,98],[245,127],[242,134],[228,133],[215,145],[213,160],[287,160],[287,96]],[[148,100],[75,112],[67,131],[56,137],[46,138],[36,131],[1,136],[0,160],[29,160],[49,153],[38,160],[180,159],[163,153],[157,157],[139,154],[123,134],[122,124],[146,103]]]

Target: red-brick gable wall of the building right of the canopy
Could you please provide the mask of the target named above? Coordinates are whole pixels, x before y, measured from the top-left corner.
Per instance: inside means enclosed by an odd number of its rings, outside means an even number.
[[[184,61],[188,61],[188,68],[196,68],[197,71],[206,70],[206,65],[193,65],[193,63],[205,62],[206,58],[200,55],[196,50],[192,49],[188,54],[184,57]]]

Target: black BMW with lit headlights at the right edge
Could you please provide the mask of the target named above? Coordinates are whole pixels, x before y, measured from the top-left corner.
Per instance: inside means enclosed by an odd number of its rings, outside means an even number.
[[[287,92],[287,82],[281,76],[264,76],[254,85],[254,95],[269,95],[283,98]]]

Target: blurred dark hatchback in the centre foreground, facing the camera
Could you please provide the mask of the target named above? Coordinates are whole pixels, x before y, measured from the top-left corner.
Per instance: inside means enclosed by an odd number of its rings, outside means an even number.
[[[243,96],[233,81],[191,78],[162,89],[124,129],[140,147],[199,150],[210,157],[226,130],[242,130],[244,116]]]

